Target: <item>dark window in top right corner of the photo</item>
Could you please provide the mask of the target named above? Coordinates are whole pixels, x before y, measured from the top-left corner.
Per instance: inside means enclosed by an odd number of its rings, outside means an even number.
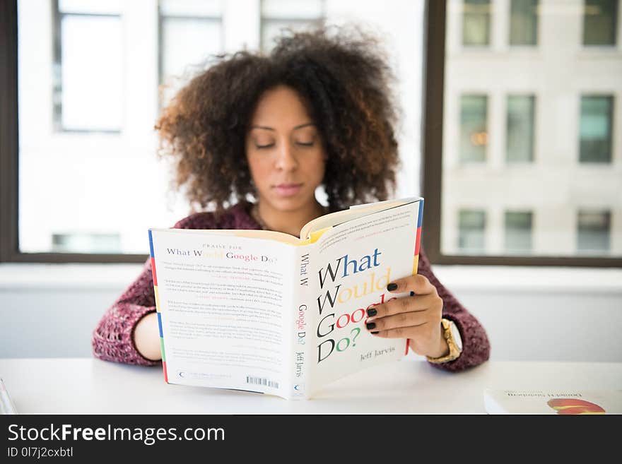
[[[585,0],[583,44],[615,45],[618,28],[618,0]]]

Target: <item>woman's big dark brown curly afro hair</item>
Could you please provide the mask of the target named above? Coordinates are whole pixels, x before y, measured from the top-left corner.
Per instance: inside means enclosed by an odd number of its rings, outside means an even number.
[[[262,94],[293,88],[307,102],[327,153],[330,210],[385,200],[399,165],[394,76],[375,37],[359,29],[286,31],[269,54],[218,55],[163,109],[160,156],[194,209],[220,213],[256,196],[245,141]],[[198,207],[198,208],[197,208]]]

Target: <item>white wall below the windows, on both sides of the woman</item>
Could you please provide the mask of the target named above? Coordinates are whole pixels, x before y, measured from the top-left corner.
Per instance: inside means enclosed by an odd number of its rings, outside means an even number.
[[[88,357],[136,265],[0,266],[0,357]],[[622,270],[436,266],[493,360],[622,362]]]

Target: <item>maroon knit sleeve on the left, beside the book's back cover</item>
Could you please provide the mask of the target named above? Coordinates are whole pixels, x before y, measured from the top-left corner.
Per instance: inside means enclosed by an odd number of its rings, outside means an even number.
[[[155,292],[151,259],[148,259],[139,277],[112,304],[95,331],[93,331],[93,355],[105,361],[153,366],[160,361],[143,357],[134,345],[136,324],[155,311]]]

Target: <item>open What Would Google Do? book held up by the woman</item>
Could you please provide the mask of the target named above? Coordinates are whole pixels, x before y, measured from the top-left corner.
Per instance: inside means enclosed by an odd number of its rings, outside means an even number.
[[[423,198],[355,206],[266,230],[150,229],[165,381],[310,398],[326,383],[403,357],[366,310],[406,294]]]

